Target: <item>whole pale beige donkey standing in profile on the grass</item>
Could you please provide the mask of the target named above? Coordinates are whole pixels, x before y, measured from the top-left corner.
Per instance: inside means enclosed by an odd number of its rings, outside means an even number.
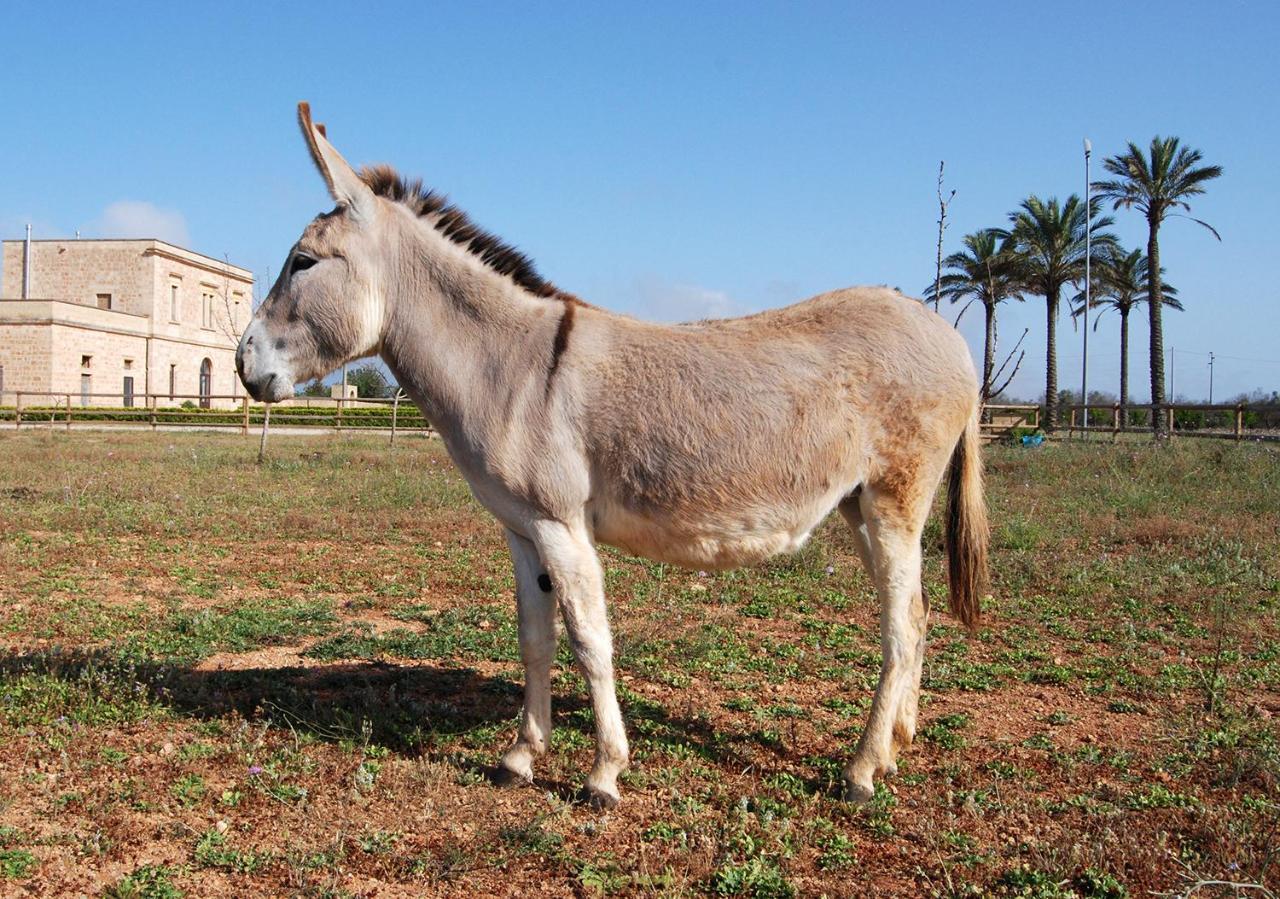
[[[950,607],[986,589],[978,388],[960,336],[920,302],[849,288],[739,319],[662,325],[582,302],[421,182],[360,172],[307,104],[298,122],[337,207],[316,216],[236,356],[255,400],[378,353],[506,529],[525,697],[497,780],[532,781],[550,735],[556,610],[590,686],[585,799],[618,802],[607,543],[695,569],[800,548],[832,511],[881,602],[879,684],[844,771],[865,802],[915,735],[928,598],[920,538],[950,464]]]

